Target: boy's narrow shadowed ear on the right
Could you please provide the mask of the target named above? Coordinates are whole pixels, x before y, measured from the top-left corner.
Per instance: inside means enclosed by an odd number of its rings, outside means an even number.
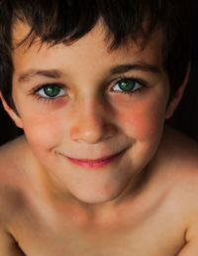
[[[183,95],[184,89],[186,87],[186,84],[188,82],[189,74],[190,74],[190,64],[188,65],[183,83],[180,85],[178,90],[175,92],[173,98],[171,99],[171,101],[169,102],[169,104],[167,106],[165,119],[169,119],[173,115],[174,110],[176,109],[176,107],[178,106],[178,104],[179,104],[179,102],[182,98],[182,95]]]

